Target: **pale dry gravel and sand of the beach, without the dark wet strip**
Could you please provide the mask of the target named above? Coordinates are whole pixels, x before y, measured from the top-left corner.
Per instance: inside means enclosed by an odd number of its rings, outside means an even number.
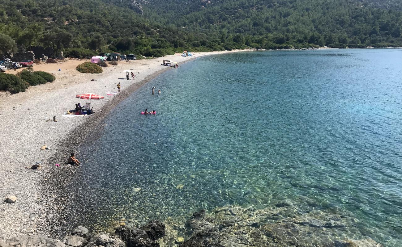
[[[47,171],[55,168],[54,163],[45,161],[56,155],[60,141],[65,140],[73,129],[80,126],[85,117],[64,117],[64,112],[73,109],[75,104],[85,104],[86,100],[75,98],[80,93],[96,93],[105,96],[103,100],[92,100],[91,106],[98,110],[113,100],[121,100],[119,94],[108,96],[107,92],[116,92],[116,85],[121,83],[124,92],[131,85],[148,80],[151,75],[162,73],[172,67],[161,66],[163,59],[182,63],[203,55],[223,52],[193,53],[193,57],[181,57],[180,54],[130,62],[103,68],[101,74],[84,74],[75,70],[83,63],[81,60],[69,60],[66,63],[34,65],[35,70],[53,73],[55,82],[29,87],[27,92],[9,94],[0,92],[0,198],[15,195],[18,200],[13,204],[0,203],[0,239],[18,235],[47,234],[40,226],[46,225],[47,219],[54,218],[47,212],[49,198],[41,196],[40,182],[47,180]],[[61,71],[58,71],[58,69]],[[180,68],[178,68],[180,69]],[[123,70],[133,71],[134,80],[125,80]],[[8,73],[8,72],[7,72]],[[10,71],[13,73],[13,71]],[[91,81],[96,80],[96,81]],[[123,94],[122,94],[123,95]],[[96,112],[96,114],[103,114]],[[50,122],[56,116],[58,122]],[[85,128],[85,126],[82,126]],[[50,149],[40,150],[42,145]],[[66,152],[70,152],[68,150]],[[78,157],[79,158],[79,157]],[[42,161],[41,170],[30,169],[35,161]],[[60,165],[65,165],[60,161]],[[69,169],[80,169],[69,167]],[[57,206],[57,205],[55,205]]]

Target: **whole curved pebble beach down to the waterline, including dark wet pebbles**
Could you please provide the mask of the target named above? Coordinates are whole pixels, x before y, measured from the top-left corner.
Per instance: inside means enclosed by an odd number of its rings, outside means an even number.
[[[169,69],[160,65],[162,59],[183,63],[203,55],[226,52],[234,51],[194,53],[192,58],[175,54],[131,63],[120,62],[118,66],[104,68],[102,74],[55,71],[56,80],[53,83],[30,87],[27,92],[13,95],[1,92],[0,198],[3,199],[0,203],[0,240],[20,235],[48,235],[49,229],[54,229],[50,222],[58,218],[59,209],[66,200],[56,196],[55,185],[62,184],[63,179],[54,176],[63,174],[64,179],[68,179],[68,173],[77,170],[77,167],[65,165],[69,153],[83,143],[90,130],[98,127],[107,112],[121,100]],[[120,72],[125,69],[133,70],[134,80],[125,80],[125,73]],[[117,91],[118,82],[121,83],[121,93],[107,96],[106,92]],[[96,114],[62,117],[76,103],[85,104],[85,100],[74,97],[76,94],[89,92],[105,96],[104,100],[92,100],[91,106],[94,106]],[[48,121],[53,116],[58,122]],[[40,150],[42,145],[49,150]],[[31,165],[36,161],[42,161],[42,167],[33,170]],[[59,163],[60,167],[55,167],[55,163]],[[6,202],[8,195],[16,196],[17,201]]]

